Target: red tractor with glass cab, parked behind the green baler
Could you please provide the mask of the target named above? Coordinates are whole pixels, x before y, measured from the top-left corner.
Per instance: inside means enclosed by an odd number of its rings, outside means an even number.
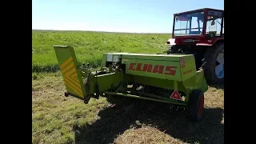
[[[174,14],[167,54],[194,54],[207,82],[224,82],[224,10],[210,8]]]

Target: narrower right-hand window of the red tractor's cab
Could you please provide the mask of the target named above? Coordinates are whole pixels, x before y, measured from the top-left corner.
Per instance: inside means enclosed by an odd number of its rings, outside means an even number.
[[[222,12],[210,10],[208,13],[207,22],[206,22],[206,34],[212,33],[214,34],[214,36],[220,36],[221,29],[222,29],[221,24],[222,24]]]

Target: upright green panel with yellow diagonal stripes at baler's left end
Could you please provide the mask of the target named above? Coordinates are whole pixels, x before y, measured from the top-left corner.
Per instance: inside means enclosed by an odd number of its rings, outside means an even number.
[[[82,76],[78,70],[78,62],[73,47],[54,46],[54,51],[62,72],[66,91],[78,98],[84,98],[86,96],[86,90],[83,86]]]

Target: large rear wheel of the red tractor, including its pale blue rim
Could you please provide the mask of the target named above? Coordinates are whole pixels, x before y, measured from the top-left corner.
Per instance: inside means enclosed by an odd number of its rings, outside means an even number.
[[[210,84],[224,82],[224,42],[218,42],[206,50],[206,66],[204,67],[206,81]]]

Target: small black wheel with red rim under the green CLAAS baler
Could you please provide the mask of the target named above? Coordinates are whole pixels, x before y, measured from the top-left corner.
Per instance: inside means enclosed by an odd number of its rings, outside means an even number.
[[[198,122],[201,120],[204,109],[204,94],[202,90],[193,90],[188,104],[187,120]]]

